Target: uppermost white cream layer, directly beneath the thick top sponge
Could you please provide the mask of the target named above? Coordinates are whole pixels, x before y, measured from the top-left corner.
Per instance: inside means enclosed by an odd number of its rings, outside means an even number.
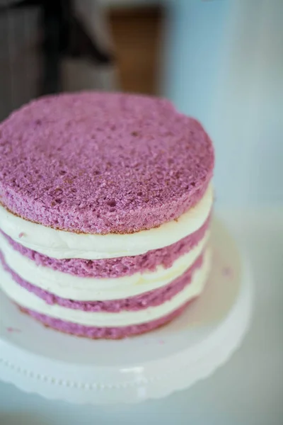
[[[23,220],[0,205],[0,228],[19,244],[54,259],[112,259],[145,254],[178,242],[207,220],[213,203],[212,185],[194,208],[178,220],[132,234],[76,234]]]

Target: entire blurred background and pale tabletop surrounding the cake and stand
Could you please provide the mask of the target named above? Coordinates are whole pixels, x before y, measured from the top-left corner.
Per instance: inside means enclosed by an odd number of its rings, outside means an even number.
[[[192,391],[77,409],[0,383],[1,425],[283,424],[282,17],[283,0],[0,0],[0,120],[59,91],[170,98],[214,140],[216,207],[256,288],[243,348]]]

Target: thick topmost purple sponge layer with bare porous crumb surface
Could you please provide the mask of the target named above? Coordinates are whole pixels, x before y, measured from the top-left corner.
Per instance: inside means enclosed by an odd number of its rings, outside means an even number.
[[[169,101],[85,92],[47,96],[0,125],[0,201],[42,225],[130,233],[202,197],[212,142]]]

